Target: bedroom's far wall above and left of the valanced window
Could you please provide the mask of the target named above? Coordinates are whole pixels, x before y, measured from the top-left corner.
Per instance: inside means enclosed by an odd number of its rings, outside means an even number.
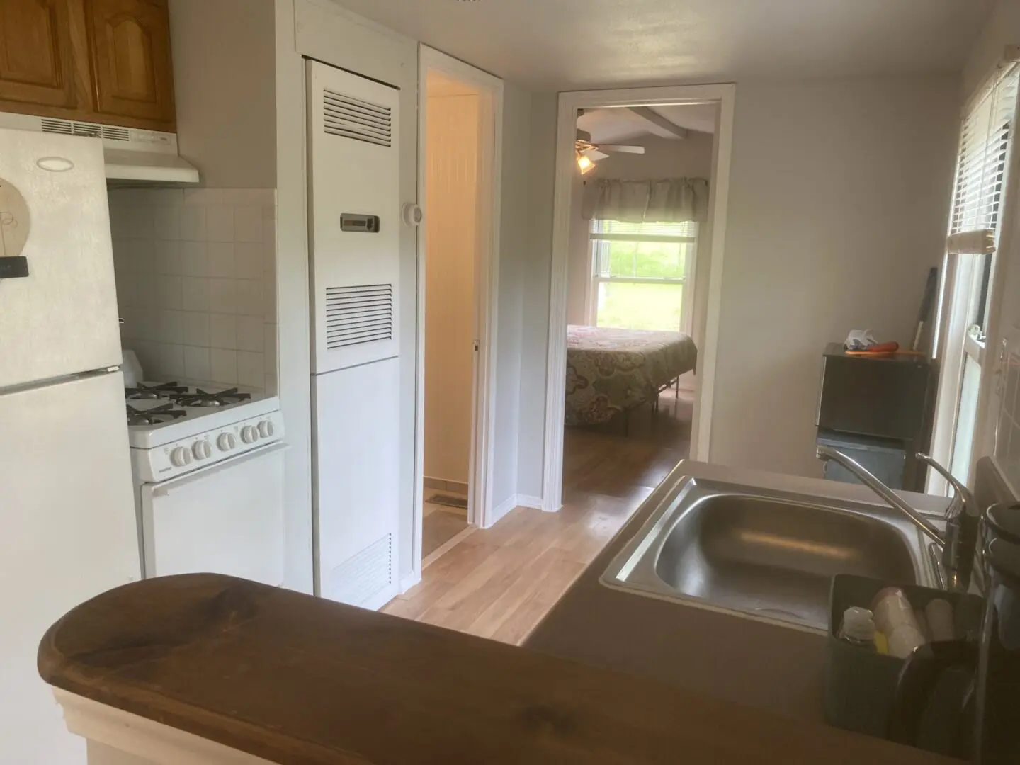
[[[645,154],[610,154],[597,168],[574,177],[570,216],[570,254],[567,263],[567,323],[585,324],[585,300],[591,288],[589,230],[591,221],[581,217],[583,184],[600,177],[621,181],[646,181],[665,177],[704,177],[712,175],[712,147],[715,136],[692,132],[685,140],[673,141],[659,136],[644,136],[621,141],[644,146]],[[708,252],[708,249],[704,250]]]

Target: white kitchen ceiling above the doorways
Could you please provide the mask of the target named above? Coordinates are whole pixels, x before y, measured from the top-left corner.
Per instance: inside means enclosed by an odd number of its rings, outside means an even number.
[[[340,0],[545,90],[958,71],[994,0]]]

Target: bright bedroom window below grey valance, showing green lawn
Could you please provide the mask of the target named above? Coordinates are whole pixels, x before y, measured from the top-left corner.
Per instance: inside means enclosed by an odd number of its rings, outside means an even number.
[[[698,223],[592,221],[590,323],[690,333]]]

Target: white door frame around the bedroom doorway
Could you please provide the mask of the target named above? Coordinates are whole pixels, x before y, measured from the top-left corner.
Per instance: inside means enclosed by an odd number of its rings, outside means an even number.
[[[656,106],[665,104],[719,104],[719,122],[713,157],[708,224],[712,234],[709,252],[699,252],[699,265],[709,267],[704,337],[698,344],[698,391],[691,431],[691,456],[707,462],[710,456],[712,406],[719,334],[719,305],[722,294],[722,256],[726,239],[726,208],[729,195],[729,165],[732,151],[733,102],[736,86],[680,85],[664,88],[627,88],[605,91],[574,91],[560,94],[556,132],[556,195],[553,212],[553,266],[549,294],[549,357],[546,380],[545,470],[543,509],[559,510],[563,505],[563,418],[566,409],[567,357],[567,259],[570,242],[571,183],[576,172],[574,140],[577,109],[605,106]]]

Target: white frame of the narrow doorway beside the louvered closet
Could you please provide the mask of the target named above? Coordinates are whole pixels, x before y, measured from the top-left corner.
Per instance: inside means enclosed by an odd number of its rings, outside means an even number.
[[[439,72],[477,89],[478,214],[475,248],[475,355],[468,522],[492,525],[493,444],[496,427],[496,316],[500,273],[500,207],[503,176],[503,81],[446,53],[419,46],[418,66],[418,199],[425,208],[428,72]],[[425,219],[428,210],[424,209]],[[421,522],[424,513],[425,421],[425,251],[424,223],[418,230],[418,316],[414,435],[414,572],[421,574]]]

